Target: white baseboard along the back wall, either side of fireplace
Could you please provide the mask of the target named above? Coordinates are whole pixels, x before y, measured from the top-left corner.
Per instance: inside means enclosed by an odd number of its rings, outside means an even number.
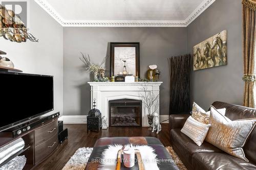
[[[169,123],[169,115],[160,115],[160,122],[166,120],[163,123]],[[59,117],[59,120],[62,120],[64,124],[86,124],[87,116],[86,115],[63,115]]]

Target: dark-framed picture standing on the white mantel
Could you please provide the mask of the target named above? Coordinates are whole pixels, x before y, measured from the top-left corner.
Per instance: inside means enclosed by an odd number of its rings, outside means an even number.
[[[130,75],[140,77],[140,43],[110,43],[111,76]]]

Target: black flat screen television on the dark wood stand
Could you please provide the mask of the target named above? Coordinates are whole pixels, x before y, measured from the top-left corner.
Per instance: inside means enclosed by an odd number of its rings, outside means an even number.
[[[0,72],[0,131],[53,110],[53,76]]]

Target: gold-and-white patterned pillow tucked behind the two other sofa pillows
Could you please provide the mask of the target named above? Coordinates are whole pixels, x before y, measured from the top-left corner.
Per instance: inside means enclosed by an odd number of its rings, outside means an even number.
[[[218,111],[225,115],[226,108],[218,109]],[[195,102],[193,102],[193,110],[192,110],[192,117],[195,118],[198,122],[202,124],[209,124],[209,115],[210,111],[204,111],[200,106],[198,106]]]

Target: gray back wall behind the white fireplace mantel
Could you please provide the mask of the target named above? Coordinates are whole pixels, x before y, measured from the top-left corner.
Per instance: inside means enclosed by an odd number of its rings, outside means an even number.
[[[80,52],[101,62],[109,55],[109,42],[140,42],[141,77],[148,65],[157,64],[160,81],[160,114],[168,114],[169,71],[167,58],[185,54],[186,28],[63,28],[64,115],[87,115],[90,110],[89,74],[82,69]],[[110,59],[107,59],[110,65]],[[109,68],[109,66],[108,66]]]

